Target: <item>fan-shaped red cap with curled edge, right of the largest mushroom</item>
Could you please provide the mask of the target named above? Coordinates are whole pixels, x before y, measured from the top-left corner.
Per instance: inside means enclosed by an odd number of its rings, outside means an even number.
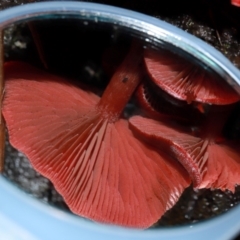
[[[189,173],[195,188],[229,189],[240,184],[240,145],[198,138],[163,122],[135,116],[131,129],[153,146],[164,149]]]

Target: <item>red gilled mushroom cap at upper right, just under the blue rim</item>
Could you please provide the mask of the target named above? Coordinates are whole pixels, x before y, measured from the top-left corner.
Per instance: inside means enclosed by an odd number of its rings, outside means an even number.
[[[216,105],[240,99],[226,82],[171,52],[146,49],[144,60],[151,80],[177,99]]]

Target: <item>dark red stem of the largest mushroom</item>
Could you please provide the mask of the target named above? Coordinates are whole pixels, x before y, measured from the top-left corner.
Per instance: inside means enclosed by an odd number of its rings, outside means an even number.
[[[109,122],[119,119],[124,107],[141,81],[142,51],[138,43],[133,43],[130,52],[112,76],[98,109]]]

